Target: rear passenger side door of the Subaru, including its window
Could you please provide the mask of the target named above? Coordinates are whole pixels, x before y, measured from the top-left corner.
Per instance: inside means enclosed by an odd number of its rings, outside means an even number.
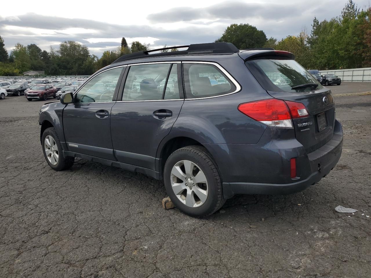
[[[112,144],[119,162],[156,170],[158,145],[184,102],[180,84],[181,63],[130,66],[111,113]]]

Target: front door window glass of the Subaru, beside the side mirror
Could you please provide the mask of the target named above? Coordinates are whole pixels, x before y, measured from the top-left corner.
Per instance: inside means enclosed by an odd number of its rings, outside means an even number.
[[[117,84],[123,67],[106,70],[94,76],[77,92],[75,103],[110,102],[115,93],[115,87],[104,87],[104,82]]]

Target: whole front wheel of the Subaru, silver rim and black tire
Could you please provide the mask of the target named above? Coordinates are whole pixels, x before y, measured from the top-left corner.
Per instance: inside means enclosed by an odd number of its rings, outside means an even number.
[[[41,142],[46,162],[52,169],[61,171],[72,167],[75,158],[63,154],[62,145],[54,128],[45,129]]]

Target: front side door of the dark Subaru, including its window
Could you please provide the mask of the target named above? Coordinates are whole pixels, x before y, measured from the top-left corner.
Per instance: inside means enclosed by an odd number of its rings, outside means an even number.
[[[74,103],[63,109],[63,130],[69,151],[115,160],[110,118],[123,69],[116,67],[98,73],[77,91]],[[106,90],[105,83],[114,83],[114,87]]]

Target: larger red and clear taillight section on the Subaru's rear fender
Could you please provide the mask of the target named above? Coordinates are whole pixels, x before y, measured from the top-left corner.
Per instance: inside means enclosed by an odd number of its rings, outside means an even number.
[[[268,126],[292,128],[291,114],[288,106],[280,99],[265,99],[242,103],[238,110]]]

